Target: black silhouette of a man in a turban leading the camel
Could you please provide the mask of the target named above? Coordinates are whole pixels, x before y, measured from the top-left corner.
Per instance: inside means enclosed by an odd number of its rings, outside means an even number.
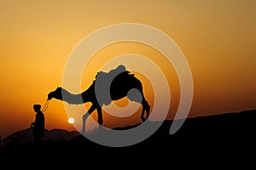
[[[36,112],[35,122],[31,123],[33,128],[34,144],[40,144],[41,138],[44,136],[44,113],[41,111],[41,105],[33,105]]]

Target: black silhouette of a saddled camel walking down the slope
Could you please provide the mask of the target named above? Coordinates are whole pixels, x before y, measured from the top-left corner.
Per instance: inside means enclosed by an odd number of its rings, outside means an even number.
[[[140,96],[136,93],[129,93],[134,88],[140,92]],[[102,125],[102,106],[109,105],[112,100],[122,99],[125,96],[131,101],[143,105],[141,119],[145,122],[149,116],[150,105],[144,97],[142,82],[130,71],[126,71],[124,65],[119,65],[108,73],[99,71],[96,74],[96,80],[81,94],[71,94],[66,89],[58,87],[48,94],[48,99],[60,99],[72,105],[91,102],[90,109],[82,116],[82,133],[85,133],[86,119],[93,111],[97,111],[97,122]],[[145,111],[146,117],[144,117]]]

